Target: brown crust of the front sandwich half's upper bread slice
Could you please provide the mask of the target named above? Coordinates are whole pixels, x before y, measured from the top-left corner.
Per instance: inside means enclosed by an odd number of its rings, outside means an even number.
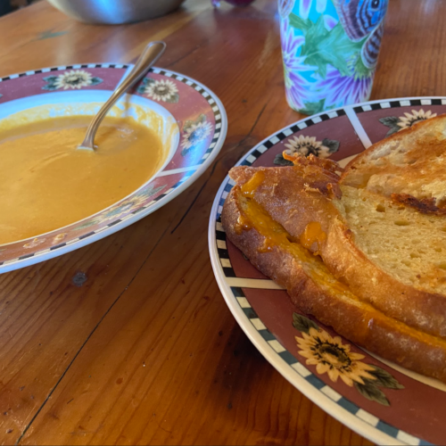
[[[326,242],[313,246],[312,251],[318,249],[326,267],[348,283],[352,293],[391,318],[446,338],[445,296],[401,283],[359,250],[341,213],[324,193],[326,187],[321,186],[321,182],[333,178],[326,178],[323,173],[318,178],[317,171],[309,178],[297,167],[237,167],[229,175],[238,185],[244,185],[259,169],[264,171],[265,178],[253,194],[254,200],[297,239],[310,222],[318,221],[326,232]],[[312,187],[314,184],[318,188]]]

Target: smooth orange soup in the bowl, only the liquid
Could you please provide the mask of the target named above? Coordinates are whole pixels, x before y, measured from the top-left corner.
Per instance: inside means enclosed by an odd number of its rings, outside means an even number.
[[[97,150],[77,150],[91,116],[0,128],[0,244],[102,211],[161,167],[159,136],[132,118],[106,117]]]

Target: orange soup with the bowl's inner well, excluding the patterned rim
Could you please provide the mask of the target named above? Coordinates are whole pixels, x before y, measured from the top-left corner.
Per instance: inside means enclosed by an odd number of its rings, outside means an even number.
[[[0,245],[103,211],[149,182],[178,145],[173,116],[128,95],[103,120],[95,152],[79,150],[109,93],[52,95],[30,109],[0,110]]]

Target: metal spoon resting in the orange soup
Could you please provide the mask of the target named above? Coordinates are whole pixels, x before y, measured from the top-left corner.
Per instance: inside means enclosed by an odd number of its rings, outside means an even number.
[[[130,87],[134,86],[136,82],[145,75],[153,63],[159,59],[162,53],[164,53],[165,49],[166,44],[164,42],[151,42],[145,47],[145,50],[136,61],[133,70],[128,73],[128,77],[115,88],[108,101],[104,103],[96,113],[95,118],[93,118],[87,128],[85,139],[82,144],[78,146],[78,149],[95,150],[95,134],[107,112],[111,109],[114,103],[120,99],[120,96],[124,95]]]

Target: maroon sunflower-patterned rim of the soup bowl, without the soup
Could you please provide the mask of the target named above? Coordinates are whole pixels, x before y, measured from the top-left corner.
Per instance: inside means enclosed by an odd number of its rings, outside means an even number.
[[[0,78],[0,119],[43,104],[103,103],[132,66],[91,63],[27,71]],[[161,208],[202,175],[219,153],[227,117],[219,98],[192,78],[153,68],[131,103],[175,126],[169,155],[144,186],[95,215],[44,235],[0,245],[0,272],[21,268],[91,244]]]

